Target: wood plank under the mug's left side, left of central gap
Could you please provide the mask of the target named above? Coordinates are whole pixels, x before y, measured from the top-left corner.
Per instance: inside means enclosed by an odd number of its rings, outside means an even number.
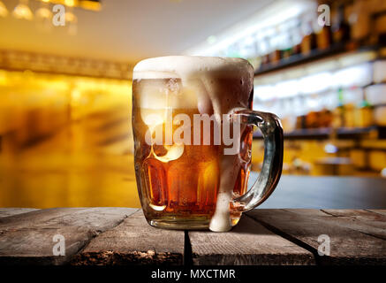
[[[149,226],[142,210],[90,241],[71,264],[183,264],[184,231]]]

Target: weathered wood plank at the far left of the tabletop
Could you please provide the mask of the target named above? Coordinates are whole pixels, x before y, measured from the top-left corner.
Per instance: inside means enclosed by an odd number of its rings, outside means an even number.
[[[59,208],[0,218],[0,264],[64,264],[95,235],[137,209]],[[53,237],[64,236],[65,255],[54,256]]]

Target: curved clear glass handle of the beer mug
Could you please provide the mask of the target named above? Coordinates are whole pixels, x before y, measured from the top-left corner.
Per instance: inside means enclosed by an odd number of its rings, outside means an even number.
[[[284,135],[275,114],[246,109],[235,111],[233,115],[241,124],[258,126],[264,139],[264,160],[258,179],[246,194],[231,201],[233,208],[244,212],[263,203],[275,190],[282,174]]]

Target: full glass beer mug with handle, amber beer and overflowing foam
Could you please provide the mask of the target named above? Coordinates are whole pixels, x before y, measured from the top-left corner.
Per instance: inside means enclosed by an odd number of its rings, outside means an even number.
[[[282,172],[283,129],[253,101],[254,68],[243,59],[155,57],[134,67],[134,166],[148,224],[229,231],[269,197]],[[248,189],[254,126],[264,161]]]

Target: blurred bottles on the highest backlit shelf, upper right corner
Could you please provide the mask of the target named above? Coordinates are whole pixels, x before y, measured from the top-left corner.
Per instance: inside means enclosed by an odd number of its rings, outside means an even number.
[[[380,4],[379,9],[383,9],[384,5]],[[373,3],[373,6],[376,7],[376,4]],[[386,39],[386,30],[383,30],[386,29],[383,28],[386,16],[377,13],[375,7],[370,9],[363,0],[333,1],[329,4],[329,21],[325,22],[324,26],[318,21],[320,14],[302,15],[290,24],[285,24],[285,29],[276,28],[277,34],[272,36],[276,36],[277,39],[265,39],[268,42],[265,45],[270,43],[268,52],[262,56],[252,57],[250,61],[259,69],[266,65],[276,65],[294,55],[307,56],[313,50],[328,50],[332,46],[354,50],[359,44],[382,42],[382,38]]]

